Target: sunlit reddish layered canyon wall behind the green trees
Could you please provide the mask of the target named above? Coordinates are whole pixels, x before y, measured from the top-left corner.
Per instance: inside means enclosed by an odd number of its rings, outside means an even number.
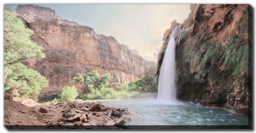
[[[49,81],[41,95],[60,92],[73,85],[72,77],[91,70],[111,73],[113,83],[128,83],[148,73],[156,64],[131,53],[129,48],[111,36],[98,35],[92,28],[63,20],[50,8],[19,5],[18,16],[34,31],[31,39],[45,48],[46,58],[26,65]],[[82,93],[82,86],[75,84]]]

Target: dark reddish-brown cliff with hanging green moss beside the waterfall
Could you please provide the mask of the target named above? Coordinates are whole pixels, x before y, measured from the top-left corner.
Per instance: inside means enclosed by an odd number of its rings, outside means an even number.
[[[157,74],[169,35],[177,28],[177,98],[251,115],[251,7],[196,4],[190,8],[183,24],[173,21],[164,33]]]

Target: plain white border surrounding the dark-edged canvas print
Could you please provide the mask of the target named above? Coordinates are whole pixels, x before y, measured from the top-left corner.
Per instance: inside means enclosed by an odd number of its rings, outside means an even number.
[[[2,90],[1,90],[1,98],[0,98],[0,107],[1,107],[1,120],[0,120],[0,126],[1,126],[1,133],[6,133],[6,132],[10,132],[8,131],[5,127],[4,127],[4,104],[3,104],[3,76],[4,76],[4,71],[3,71],[3,8],[4,8],[4,4],[43,4],[43,3],[52,3],[52,0],[44,0],[44,1],[33,1],[33,0],[23,0],[23,1],[19,1],[19,0],[1,0],[1,9],[0,9],[0,15],[1,15],[1,21],[0,21],[0,25],[2,27],[2,31],[0,32],[0,36],[1,36],[1,48],[0,48],[0,83],[2,86]],[[206,0],[193,0],[193,1],[189,1],[189,0],[178,0],[178,1],[168,1],[168,0],[108,0],[108,1],[104,1],[104,0],[84,0],[84,1],[80,1],[80,0],[72,0],[72,1],[68,1],[68,0],[55,0],[54,3],[171,3],[171,4],[250,4],[254,10],[254,8],[256,7],[256,2],[255,0],[250,1],[250,0],[240,0],[240,1],[234,1],[234,0],[214,0],[214,1],[206,1]],[[254,12],[253,12],[254,13]],[[255,17],[255,15],[253,14],[253,18]],[[254,20],[254,19],[253,19]],[[253,21],[254,22],[254,21]],[[254,26],[254,24],[253,24]],[[253,27],[253,31],[255,31],[255,27]],[[255,35],[253,35],[252,39],[255,39]],[[254,41],[253,41],[254,42]],[[255,47],[253,47],[253,51],[255,51]],[[255,62],[256,58],[253,57],[253,62]],[[255,82],[255,79],[253,78],[253,83]],[[254,92],[254,91],[253,91]],[[254,95],[253,95],[254,96]],[[254,99],[254,98],[253,98]],[[255,102],[253,101],[253,114],[255,114]],[[253,124],[253,127],[255,126],[255,124]],[[48,132],[48,133],[56,133],[56,132],[63,132],[63,131],[68,131],[68,132],[74,132],[74,130],[31,130],[31,132]],[[187,130],[187,131],[171,131],[171,132],[206,132],[206,130]],[[215,131],[207,131],[207,132],[218,132],[218,133],[223,133],[223,132],[241,132],[241,131],[252,131],[252,130],[215,130]],[[22,130],[19,131],[12,131],[12,132],[22,132]],[[27,132],[23,131],[23,132]],[[76,132],[94,132],[93,130],[76,130]],[[124,132],[124,130],[117,130],[117,131],[113,131],[113,130],[102,130],[102,131],[96,131],[96,132]],[[149,131],[125,131],[125,132],[149,132]],[[153,132],[158,132],[158,131],[153,131]],[[162,132],[170,132],[170,131],[162,131]],[[253,131],[255,132],[255,131]]]

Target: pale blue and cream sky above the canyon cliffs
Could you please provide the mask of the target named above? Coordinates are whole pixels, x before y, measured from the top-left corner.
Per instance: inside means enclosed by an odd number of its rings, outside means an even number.
[[[113,36],[155,62],[165,30],[173,20],[183,23],[190,12],[189,4],[36,5],[50,7],[63,19],[91,27],[97,34]],[[16,8],[17,4],[5,6]]]

